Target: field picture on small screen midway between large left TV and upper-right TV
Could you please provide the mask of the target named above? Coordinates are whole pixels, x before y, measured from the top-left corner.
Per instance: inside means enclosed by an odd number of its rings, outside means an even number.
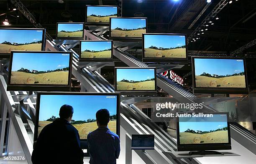
[[[81,42],[81,58],[111,58],[112,42]]]

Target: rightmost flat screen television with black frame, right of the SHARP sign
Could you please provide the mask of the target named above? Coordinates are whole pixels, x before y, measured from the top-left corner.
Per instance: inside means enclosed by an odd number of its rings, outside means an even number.
[[[246,64],[244,59],[226,57],[192,57],[191,60],[194,93],[248,93]]]

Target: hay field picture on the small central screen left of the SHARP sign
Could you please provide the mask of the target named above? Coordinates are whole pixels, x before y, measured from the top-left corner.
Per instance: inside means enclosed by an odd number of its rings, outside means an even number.
[[[116,70],[117,90],[152,90],[155,88],[154,69],[118,69]]]

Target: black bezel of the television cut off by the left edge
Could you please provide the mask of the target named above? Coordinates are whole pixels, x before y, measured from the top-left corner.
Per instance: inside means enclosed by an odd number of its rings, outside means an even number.
[[[44,28],[0,28],[0,30],[42,30],[42,45],[41,45],[41,50],[45,50],[45,43],[46,43],[46,30]],[[10,53],[0,53],[0,59],[10,59]]]

